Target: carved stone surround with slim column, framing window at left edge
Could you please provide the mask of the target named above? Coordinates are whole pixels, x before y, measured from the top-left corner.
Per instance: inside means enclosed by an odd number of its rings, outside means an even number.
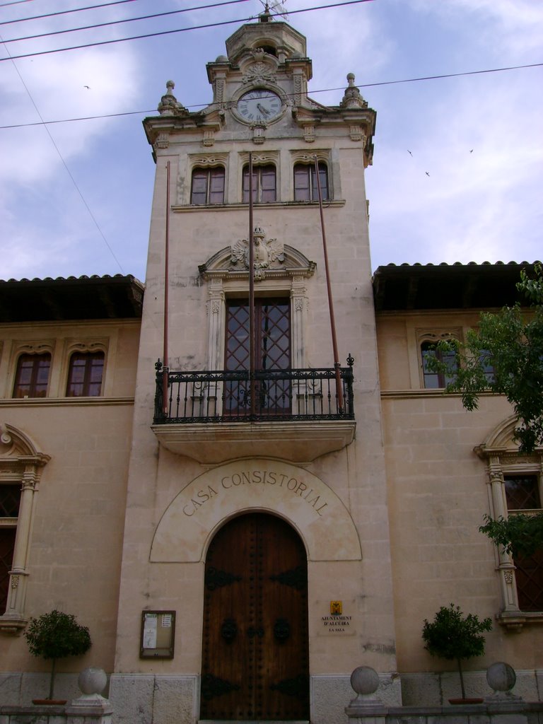
[[[15,540],[11,571],[9,571],[7,607],[0,615],[0,633],[18,633],[25,627],[25,597],[28,579],[28,556],[34,509],[41,469],[50,460],[38,452],[28,435],[12,425],[1,426],[0,484],[20,486],[19,510],[16,518],[4,518],[14,529]]]

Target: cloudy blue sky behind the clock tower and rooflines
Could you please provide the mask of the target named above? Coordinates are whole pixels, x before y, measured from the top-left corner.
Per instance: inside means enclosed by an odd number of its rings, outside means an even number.
[[[209,104],[206,63],[262,11],[260,0],[194,9],[218,1],[125,0],[58,14],[111,0],[0,0],[0,279],[145,280],[155,166],[141,120],[156,114],[169,79],[190,110]],[[311,10],[339,1],[286,0],[284,20],[307,37],[312,98],[338,105],[353,72],[377,112],[366,170],[372,269],[541,259],[543,2]],[[14,41],[59,30],[71,32]],[[443,75],[455,77],[411,80]]]

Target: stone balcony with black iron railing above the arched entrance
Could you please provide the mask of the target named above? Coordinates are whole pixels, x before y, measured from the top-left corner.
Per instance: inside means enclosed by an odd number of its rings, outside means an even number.
[[[167,397],[164,400],[164,382]],[[310,462],[353,441],[353,358],[334,369],[164,370],[156,364],[153,432],[200,463],[263,455]],[[164,404],[165,402],[165,404]]]

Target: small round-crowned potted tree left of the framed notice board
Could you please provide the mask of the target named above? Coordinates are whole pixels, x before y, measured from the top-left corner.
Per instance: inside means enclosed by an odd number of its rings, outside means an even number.
[[[56,660],[67,656],[81,656],[90,649],[90,635],[86,626],[80,626],[75,616],[62,611],[43,613],[31,618],[25,631],[28,649],[33,656],[51,660],[51,680],[48,699],[33,699],[34,704],[65,704],[54,699]]]

